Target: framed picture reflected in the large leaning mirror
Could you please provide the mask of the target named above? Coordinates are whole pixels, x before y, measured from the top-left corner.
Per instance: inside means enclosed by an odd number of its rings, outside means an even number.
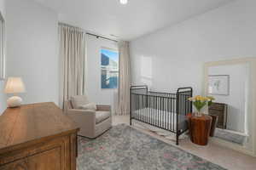
[[[230,95],[230,75],[209,75],[208,94]]]

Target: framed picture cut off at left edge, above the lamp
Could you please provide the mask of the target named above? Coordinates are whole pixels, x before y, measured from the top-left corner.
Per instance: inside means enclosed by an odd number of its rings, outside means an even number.
[[[5,79],[5,20],[0,13],[0,80]]]

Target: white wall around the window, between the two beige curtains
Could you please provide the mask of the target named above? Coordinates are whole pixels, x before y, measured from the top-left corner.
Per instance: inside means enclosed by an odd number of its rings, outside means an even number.
[[[87,78],[86,94],[90,101],[96,104],[112,105],[112,111],[115,111],[117,104],[117,89],[101,88],[101,48],[111,48],[117,50],[117,43],[87,36]]]

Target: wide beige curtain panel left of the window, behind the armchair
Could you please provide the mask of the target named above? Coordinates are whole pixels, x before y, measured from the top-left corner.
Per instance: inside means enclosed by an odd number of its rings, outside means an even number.
[[[85,32],[59,25],[61,84],[60,106],[74,95],[85,94]]]

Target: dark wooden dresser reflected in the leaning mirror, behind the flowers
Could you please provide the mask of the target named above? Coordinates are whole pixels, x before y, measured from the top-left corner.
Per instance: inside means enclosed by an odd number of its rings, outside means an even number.
[[[221,103],[212,103],[209,107],[209,114],[218,116],[217,127],[227,128],[228,105]]]

